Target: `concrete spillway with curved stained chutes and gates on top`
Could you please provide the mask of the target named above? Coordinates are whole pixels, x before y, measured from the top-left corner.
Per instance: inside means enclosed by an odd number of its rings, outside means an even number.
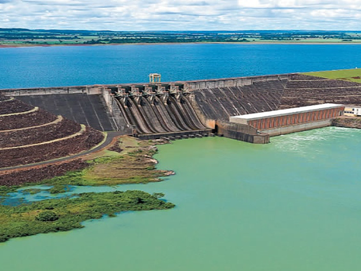
[[[141,138],[159,136],[186,136],[190,134],[209,134],[211,129],[200,121],[188,93],[145,87],[117,88],[114,97],[124,118]]]

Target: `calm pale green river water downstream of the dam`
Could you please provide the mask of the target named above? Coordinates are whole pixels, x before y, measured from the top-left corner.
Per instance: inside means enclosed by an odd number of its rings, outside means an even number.
[[[361,130],[324,128],[255,145],[222,137],[159,146],[175,209],[120,214],[0,244],[9,271],[361,270]],[[106,191],[110,187],[81,187]]]

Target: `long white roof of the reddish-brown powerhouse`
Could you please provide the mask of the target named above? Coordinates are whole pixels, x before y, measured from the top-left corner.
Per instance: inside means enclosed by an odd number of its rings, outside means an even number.
[[[262,119],[262,118],[291,115],[291,114],[296,114],[296,113],[304,113],[304,112],[310,112],[310,111],[316,111],[316,110],[322,110],[322,109],[331,109],[331,108],[337,108],[340,106],[344,106],[344,105],[336,104],[336,103],[323,103],[323,104],[302,106],[302,107],[296,107],[296,108],[288,108],[288,109],[274,110],[274,111],[268,111],[268,112],[233,116],[230,118],[231,119],[239,118],[239,119],[247,119],[247,120]]]

